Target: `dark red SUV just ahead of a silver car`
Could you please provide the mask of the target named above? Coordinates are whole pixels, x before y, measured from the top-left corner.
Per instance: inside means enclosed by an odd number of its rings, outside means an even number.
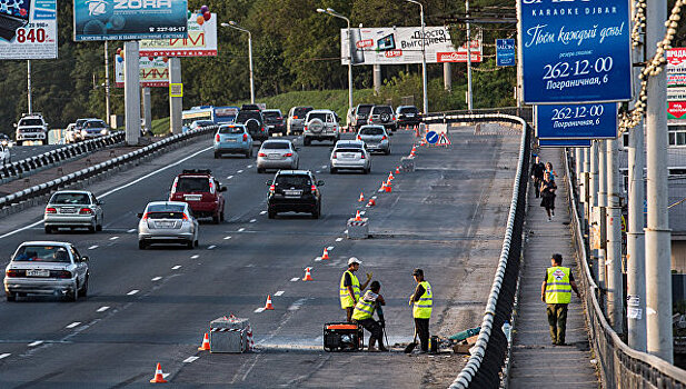
[[[197,218],[212,218],[218,225],[223,221],[225,199],[222,187],[207,169],[183,170],[171,186],[169,201],[188,202]]]

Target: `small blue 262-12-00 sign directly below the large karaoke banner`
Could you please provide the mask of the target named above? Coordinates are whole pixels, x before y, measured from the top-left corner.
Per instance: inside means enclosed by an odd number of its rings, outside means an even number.
[[[536,137],[540,139],[617,138],[617,103],[537,106]]]

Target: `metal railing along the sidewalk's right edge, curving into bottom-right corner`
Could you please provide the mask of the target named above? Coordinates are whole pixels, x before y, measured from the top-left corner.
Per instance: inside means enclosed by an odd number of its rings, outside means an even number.
[[[686,370],[683,370],[653,355],[632,349],[608,325],[600,303],[599,289],[593,279],[588,266],[586,241],[577,209],[578,199],[571,190],[571,172],[565,163],[566,184],[570,189],[568,205],[571,215],[571,228],[576,255],[581,265],[581,296],[586,319],[590,330],[590,342],[598,360],[603,386],[615,388],[686,388]]]

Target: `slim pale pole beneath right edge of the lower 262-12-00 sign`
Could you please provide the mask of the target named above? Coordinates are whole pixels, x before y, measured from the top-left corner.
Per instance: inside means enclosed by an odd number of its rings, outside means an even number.
[[[619,163],[617,138],[607,146],[607,316],[617,333],[624,332],[624,287],[622,277],[622,207],[619,206]]]

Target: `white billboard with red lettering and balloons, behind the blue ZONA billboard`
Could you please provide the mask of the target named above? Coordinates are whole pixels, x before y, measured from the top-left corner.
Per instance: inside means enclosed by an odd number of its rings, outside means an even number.
[[[195,13],[188,19],[188,38],[147,39],[140,41],[141,57],[208,57],[217,56],[217,14],[202,24]]]

